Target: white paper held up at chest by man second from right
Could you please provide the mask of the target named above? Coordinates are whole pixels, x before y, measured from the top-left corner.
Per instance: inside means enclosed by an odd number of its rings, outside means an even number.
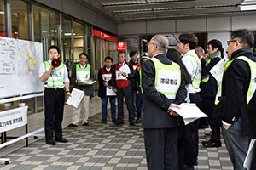
[[[228,61],[229,61],[228,57],[224,57],[223,59],[218,61],[218,63],[214,65],[210,70],[212,77],[214,77],[218,83],[221,82],[222,75],[224,73],[224,68]]]

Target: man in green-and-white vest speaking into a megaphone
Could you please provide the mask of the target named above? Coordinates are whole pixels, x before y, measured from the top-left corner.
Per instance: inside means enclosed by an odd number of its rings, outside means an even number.
[[[60,49],[50,46],[49,60],[44,61],[39,68],[39,77],[44,82],[44,133],[46,144],[55,145],[55,142],[67,143],[62,137],[61,123],[63,120],[65,92],[70,97],[67,67],[62,62],[54,67],[54,59],[60,58]]]

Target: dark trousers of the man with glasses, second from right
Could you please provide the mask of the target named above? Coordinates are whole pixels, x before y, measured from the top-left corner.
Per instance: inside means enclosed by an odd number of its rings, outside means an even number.
[[[208,122],[209,125],[212,129],[212,136],[211,139],[215,142],[220,140],[220,128],[218,126],[216,126],[216,122],[213,119],[213,109],[214,109],[214,102],[215,102],[215,98],[202,98],[201,100],[201,104],[202,104],[202,108],[203,111],[207,114],[208,116]]]

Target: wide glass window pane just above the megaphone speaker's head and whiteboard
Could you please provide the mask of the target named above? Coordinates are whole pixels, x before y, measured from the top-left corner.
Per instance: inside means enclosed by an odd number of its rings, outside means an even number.
[[[47,40],[47,45],[58,45],[57,17],[55,11],[33,5],[35,42]]]

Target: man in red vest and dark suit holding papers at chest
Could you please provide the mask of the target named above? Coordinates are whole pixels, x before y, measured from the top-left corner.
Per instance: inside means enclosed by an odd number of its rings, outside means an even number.
[[[134,106],[132,104],[132,88],[131,79],[134,78],[133,68],[129,62],[125,62],[125,52],[119,53],[119,63],[113,65],[112,67],[112,86],[113,91],[117,93],[118,99],[118,119],[115,123],[116,125],[124,124],[124,97],[127,109],[129,112],[129,122],[130,125],[135,125],[134,123]],[[122,72],[119,69],[128,65],[130,73]]]

